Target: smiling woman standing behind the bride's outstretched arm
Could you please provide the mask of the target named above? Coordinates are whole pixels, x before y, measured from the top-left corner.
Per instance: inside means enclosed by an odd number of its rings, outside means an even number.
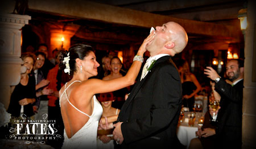
[[[112,80],[114,78],[122,77],[123,75],[120,73],[120,70],[122,68],[122,62],[121,60],[117,57],[114,56],[111,61],[110,61],[110,68],[111,68],[111,73],[108,76],[105,76],[102,78],[102,80]],[[128,89],[127,88],[122,88],[119,90],[115,90],[113,92],[115,101],[113,102],[113,107],[117,109],[121,109],[123,103],[125,102],[125,95],[127,94]]]

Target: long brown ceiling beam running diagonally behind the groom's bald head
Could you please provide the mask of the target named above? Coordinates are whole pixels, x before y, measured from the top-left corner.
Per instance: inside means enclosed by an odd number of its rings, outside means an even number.
[[[238,31],[234,26],[178,19],[171,16],[124,9],[89,1],[30,0],[28,1],[28,8],[31,10],[45,11],[47,13],[72,16],[75,18],[93,19],[109,23],[148,28],[174,21],[183,26],[188,34],[229,37],[232,38],[233,42],[240,42],[241,40],[241,31]]]

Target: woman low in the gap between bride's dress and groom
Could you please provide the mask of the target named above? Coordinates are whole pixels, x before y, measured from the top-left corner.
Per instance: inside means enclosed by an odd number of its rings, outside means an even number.
[[[113,92],[101,93],[98,96],[98,101],[101,102],[103,113],[101,117],[110,117],[119,114],[119,109],[112,107],[114,101]],[[114,139],[112,134],[113,129],[98,130],[97,148],[114,148]],[[110,135],[110,136],[107,136]]]

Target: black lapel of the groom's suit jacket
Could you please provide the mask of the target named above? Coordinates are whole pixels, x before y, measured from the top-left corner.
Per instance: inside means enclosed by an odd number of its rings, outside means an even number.
[[[167,60],[167,59],[170,59],[171,56],[163,56],[163,57],[160,57],[158,60],[156,60],[155,64],[153,65],[152,67],[152,71],[154,71],[154,68],[159,64],[159,63],[162,63],[163,61]],[[131,94],[129,95],[129,97],[127,98],[125,104],[123,104],[123,107],[121,109],[122,113],[125,113],[127,107],[130,105],[131,101],[133,101],[135,95],[138,93],[139,89],[141,89],[141,86],[143,85],[144,81],[147,79],[147,77],[150,75],[151,70],[147,73],[147,76],[145,76],[141,81],[140,78],[141,77],[138,77],[138,80],[137,80],[137,83],[135,84],[134,86],[134,89],[132,90]]]

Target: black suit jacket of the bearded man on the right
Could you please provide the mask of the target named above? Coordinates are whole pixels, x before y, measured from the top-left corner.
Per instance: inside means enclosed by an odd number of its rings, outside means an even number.
[[[221,95],[216,128],[218,142],[224,143],[224,148],[241,148],[243,80],[232,86],[221,79],[215,88]]]

